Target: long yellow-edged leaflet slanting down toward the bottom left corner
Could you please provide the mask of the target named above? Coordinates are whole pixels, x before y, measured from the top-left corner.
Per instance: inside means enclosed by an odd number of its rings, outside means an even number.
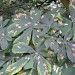
[[[9,65],[8,68],[6,69],[6,73],[8,75],[16,74],[24,67],[24,65],[29,61],[29,59],[30,57],[23,57],[18,61],[16,61],[15,63]]]

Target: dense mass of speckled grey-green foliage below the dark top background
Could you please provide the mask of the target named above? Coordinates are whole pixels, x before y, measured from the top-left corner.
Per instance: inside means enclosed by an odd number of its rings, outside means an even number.
[[[64,7],[18,6],[0,16],[0,75],[74,75],[75,2],[68,17]]]

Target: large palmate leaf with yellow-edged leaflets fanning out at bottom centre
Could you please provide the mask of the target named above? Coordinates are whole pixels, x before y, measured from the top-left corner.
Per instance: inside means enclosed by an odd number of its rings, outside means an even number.
[[[42,52],[44,52],[42,50],[43,47],[45,47],[45,46],[39,46],[38,48],[36,48],[34,50],[32,47],[26,45],[25,43],[20,42],[19,44],[15,44],[12,48],[13,53],[16,53],[16,54],[29,53],[29,54],[23,58],[20,58],[15,63],[12,63],[11,65],[9,65],[9,67],[6,69],[6,73],[8,75],[13,75],[13,74],[18,73],[19,71],[21,71],[24,68],[26,73],[27,73],[26,70],[29,70],[28,72],[29,73],[31,72],[33,74],[34,73],[33,70],[35,70],[37,67],[37,71],[38,71],[37,74],[39,74],[39,75],[50,74],[51,64],[42,55],[43,54]],[[44,53],[44,54],[48,55],[48,53]],[[36,62],[34,62],[35,60],[36,60]],[[36,66],[34,64],[36,64]],[[39,71],[40,69],[41,69],[41,71]],[[30,71],[30,70],[32,70],[32,71]],[[42,73],[42,72],[44,72],[44,73]]]

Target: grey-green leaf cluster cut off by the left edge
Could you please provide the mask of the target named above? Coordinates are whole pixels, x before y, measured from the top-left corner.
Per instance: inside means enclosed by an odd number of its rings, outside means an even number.
[[[7,25],[9,19],[3,21],[3,17],[0,16],[0,46],[2,50],[5,50],[8,47],[8,41],[11,41],[11,37],[7,34]]]

